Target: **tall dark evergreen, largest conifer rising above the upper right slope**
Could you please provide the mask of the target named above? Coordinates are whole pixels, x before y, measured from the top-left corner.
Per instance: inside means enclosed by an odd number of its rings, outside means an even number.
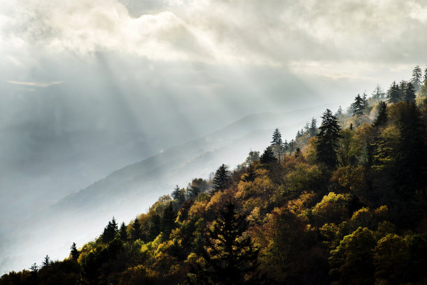
[[[331,110],[327,109],[324,111],[322,125],[320,125],[319,129],[320,132],[317,134],[316,143],[317,161],[333,169],[338,163],[336,150],[338,148],[338,140],[340,139],[340,126]]]

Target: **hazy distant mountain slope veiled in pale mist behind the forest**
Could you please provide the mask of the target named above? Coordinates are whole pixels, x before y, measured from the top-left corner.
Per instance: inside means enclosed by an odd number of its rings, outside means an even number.
[[[283,137],[290,139],[313,114],[321,111],[310,108],[246,116],[206,137],[114,171],[17,226],[8,240],[2,240],[0,255],[5,257],[0,268],[22,268],[45,254],[63,258],[73,241],[81,245],[94,238],[113,215],[118,221],[128,222],[135,213],[148,210],[158,197],[170,194],[174,185],[184,187],[192,178],[207,178],[222,163],[235,167],[244,162],[250,149],[262,151],[274,128],[280,128]],[[294,117],[307,120],[295,121]],[[30,239],[31,244],[26,242]],[[12,252],[27,252],[26,258],[10,256]]]

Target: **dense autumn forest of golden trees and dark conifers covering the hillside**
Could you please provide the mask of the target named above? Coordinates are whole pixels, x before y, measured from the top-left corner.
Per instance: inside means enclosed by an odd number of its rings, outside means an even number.
[[[0,284],[427,284],[426,127],[417,66]]]

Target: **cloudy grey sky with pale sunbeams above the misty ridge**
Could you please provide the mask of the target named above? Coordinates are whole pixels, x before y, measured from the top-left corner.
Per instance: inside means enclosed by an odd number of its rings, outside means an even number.
[[[0,241],[243,116],[334,110],[409,79],[426,30],[426,0],[3,0]]]

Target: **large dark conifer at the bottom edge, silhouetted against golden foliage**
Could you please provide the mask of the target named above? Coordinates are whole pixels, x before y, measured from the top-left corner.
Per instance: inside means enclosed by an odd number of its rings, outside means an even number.
[[[199,274],[213,284],[246,284],[257,269],[258,249],[245,232],[248,229],[246,217],[237,215],[231,201],[220,211],[205,238],[206,249],[202,256],[206,266]],[[245,276],[246,275],[246,276]],[[249,277],[249,278],[248,278]],[[253,281],[253,280],[250,280]]]

